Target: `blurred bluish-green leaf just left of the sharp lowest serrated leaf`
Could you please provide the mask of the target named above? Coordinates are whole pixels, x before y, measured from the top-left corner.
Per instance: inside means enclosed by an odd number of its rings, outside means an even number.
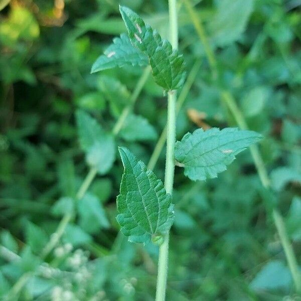
[[[109,221],[98,198],[86,193],[77,204],[79,225],[87,233],[96,233],[101,228],[108,228]]]

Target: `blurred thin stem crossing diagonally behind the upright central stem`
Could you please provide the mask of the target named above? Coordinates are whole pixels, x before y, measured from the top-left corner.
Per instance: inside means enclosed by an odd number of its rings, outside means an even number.
[[[195,78],[198,74],[200,66],[201,66],[201,60],[197,60],[194,63],[194,65],[187,77],[187,80],[181,90],[181,93],[179,94],[178,101],[177,101],[177,108],[176,108],[177,115],[180,112],[180,110],[184,104],[184,101],[186,100],[186,97],[190,91],[190,88],[195,81]],[[162,149],[165,145],[166,135],[167,135],[167,125],[164,127],[164,129],[156,143],[156,146],[154,148],[152,156],[150,156],[150,159],[147,164],[147,169],[153,170],[155,168],[155,166],[158,162],[158,159],[160,157],[160,154],[162,152]]]

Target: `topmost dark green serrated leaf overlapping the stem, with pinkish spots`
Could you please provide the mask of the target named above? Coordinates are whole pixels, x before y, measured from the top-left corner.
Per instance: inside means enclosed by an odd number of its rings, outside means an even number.
[[[165,90],[179,89],[185,81],[183,55],[173,50],[169,41],[145,25],[142,18],[127,7],[119,7],[122,19],[133,46],[148,57],[155,82]]]

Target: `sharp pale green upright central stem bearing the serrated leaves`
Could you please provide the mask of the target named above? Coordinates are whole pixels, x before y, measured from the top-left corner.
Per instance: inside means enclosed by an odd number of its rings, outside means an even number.
[[[174,49],[178,48],[178,16],[177,1],[169,0],[170,37]],[[166,166],[164,186],[167,193],[172,195],[175,174],[175,142],[176,142],[176,102],[177,92],[168,92],[167,108],[167,142],[166,142]],[[164,242],[159,248],[158,278],[156,301],[164,301],[166,295],[167,275],[168,275],[168,250],[169,232],[164,237]]]

